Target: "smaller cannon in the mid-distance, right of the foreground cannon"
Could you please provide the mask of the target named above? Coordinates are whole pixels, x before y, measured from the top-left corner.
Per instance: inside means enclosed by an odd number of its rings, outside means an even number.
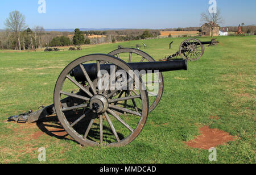
[[[171,42],[169,44],[169,48],[171,49],[171,45],[174,42]],[[204,45],[216,45],[218,41],[216,39],[212,39],[211,41],[200,41],[199,39],[186,39],[180,44],[179,51],[176,53],[168,56],[165,59],[162,59],[161,61],[168,61],[172,60],[174,57],[181,56],[182,59],[186,59],[188,61],[197,61],[199,60],[203,55],[205,51]]]

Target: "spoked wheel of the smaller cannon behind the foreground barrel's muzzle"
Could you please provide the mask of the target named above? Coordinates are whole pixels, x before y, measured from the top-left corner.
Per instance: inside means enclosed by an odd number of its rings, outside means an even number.
[[[180,56],[188,61],[196,61],[204,55],[204,45],[198,39],[187,39],[180,44]]]

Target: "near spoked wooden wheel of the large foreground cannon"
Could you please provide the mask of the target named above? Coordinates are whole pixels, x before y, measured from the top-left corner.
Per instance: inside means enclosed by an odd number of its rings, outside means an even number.
[[[97,65],[97,72],[101,70],[101,63],[113,64],[115,70],[123,70],[134,80],[129,79],[129,83],[143,86],[143,82],[138,74],[133,73],[130,66],[117,57],[110,55],[88,55],[80,57],[71,62],[61,72],[57,79],[54,91],[54,106],[57,117],[64,130],[81,145],[85,146],[108,146],[119,147],[129,144],[142,131],[148,115],[147,90],[138,90],[136,94],[132,91],[127,97],[120,95],[127,87],[127,84],[118,84],[114,89],[99,88],[98,82],[105,77],[98,74],[97,78],[88,76],[83,64]],[[79,82],[72,77],[72,71],[80,68],[86,81]],[[116,72],[115,72],[116,73]],[[77,93],[75,93],[75,91]],[[72,100],[62,103],[62,99],[79,99],[76,103]],[[119,102],[127,101],[127,107],[120,107]],[[67,105],[68,104],[68,105]],[[126,112],[127,115],[122,115]]]

